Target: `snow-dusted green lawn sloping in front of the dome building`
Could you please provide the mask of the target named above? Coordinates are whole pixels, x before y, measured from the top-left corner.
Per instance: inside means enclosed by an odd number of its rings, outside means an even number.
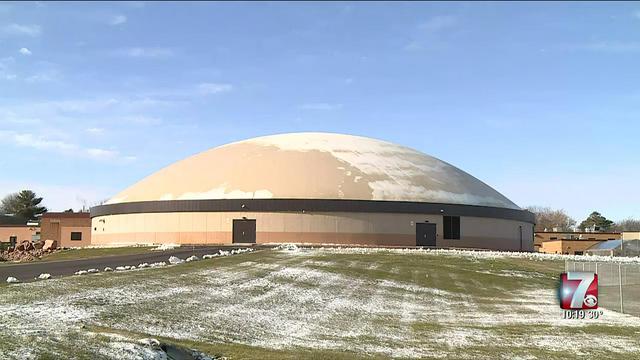
[[[0,358],[630,359],[640,319],[563,320],[559,261],[264,250],[0,289]]]

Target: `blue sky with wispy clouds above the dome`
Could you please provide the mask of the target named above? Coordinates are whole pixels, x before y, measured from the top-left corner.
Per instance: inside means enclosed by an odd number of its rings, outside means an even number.
[[[640,217],[640,3],[0,3],[0,196],[94,203],[297,131],[380,138],[520,206]]]

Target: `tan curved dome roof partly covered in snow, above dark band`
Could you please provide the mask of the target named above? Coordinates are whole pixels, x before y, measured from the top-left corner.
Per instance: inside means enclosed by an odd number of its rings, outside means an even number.
[[[385,141],[291,133],[219,146],[148,176],[107,204],[192,199],[349,199],[519,209],[444,161]]]

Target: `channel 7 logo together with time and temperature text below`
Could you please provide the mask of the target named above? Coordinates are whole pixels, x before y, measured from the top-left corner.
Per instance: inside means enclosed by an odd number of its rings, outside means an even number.
[[[558,289],[560,308],[566,319],[597,319],[598,274],[586,271],[570,271],[560,274]]]

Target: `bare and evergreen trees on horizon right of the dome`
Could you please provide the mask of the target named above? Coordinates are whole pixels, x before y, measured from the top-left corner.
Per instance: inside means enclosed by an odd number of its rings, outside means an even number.
[[[530,206],[527,210],[536,216],[535,231],[585,231],[596,227],[600,231],[640,231],[640,219],[628,218],[620,221],[612,221],[597,211],[592,212],[580,224],[562,209],[549,207]]]

